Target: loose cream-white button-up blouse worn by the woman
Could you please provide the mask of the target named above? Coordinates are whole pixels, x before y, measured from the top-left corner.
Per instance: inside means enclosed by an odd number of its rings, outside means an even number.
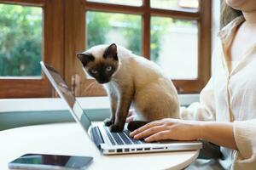
[[[256,44],[232,65],[227,49],[244,18],[238,17],[219,32],[218,53],[212,55],[212,77],[202,89],[200,102],[181,109],[181,118],[199,121],[234,122],[238,150],[221,147],[225,169],[256,169]],[[255,35],[256,38],[256,35]],[[232,69],[228,69],[231,68]]]

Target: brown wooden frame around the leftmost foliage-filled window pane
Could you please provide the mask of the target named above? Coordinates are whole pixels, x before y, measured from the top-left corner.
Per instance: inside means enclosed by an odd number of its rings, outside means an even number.
[[[42,60],[53,65],[63,75],[63,12],[62,0],[0,0],[0,3],[41,7],[42,16]],[[52,97],[53,90],[42,73],[41,78],[9,77],[0,79],[0,98]]]

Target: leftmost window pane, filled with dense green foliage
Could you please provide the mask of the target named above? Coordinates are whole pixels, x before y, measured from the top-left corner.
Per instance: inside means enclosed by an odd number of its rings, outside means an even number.
[[[0,77],[41,75],[42,8],[0,4]]]

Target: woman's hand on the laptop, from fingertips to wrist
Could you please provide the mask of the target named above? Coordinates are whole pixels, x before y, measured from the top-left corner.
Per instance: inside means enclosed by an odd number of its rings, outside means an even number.
[[[201,138],[201,122],[166,118],[149,122],[130,135],[134,139],[145,138],[146,142],[166,139],[196,140]]]

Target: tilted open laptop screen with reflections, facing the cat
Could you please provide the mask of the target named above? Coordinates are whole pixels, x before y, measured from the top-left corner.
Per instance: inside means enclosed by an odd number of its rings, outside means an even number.
[[[46,77],[48,77],[49,82],[55,88],[56,92],[61,96],[61,99],[64,99],[67,103],[73,118],[79,122],[79,124],[82,125],[82,127],[84,127],[84,129],[87,131],[91,124],[90,119],[84,113],[75,96],[68,89],[67,83],[63,80],[60,73],[56,71],[52,66],[44,64],[43,61],[41,61],[40,64]]]

